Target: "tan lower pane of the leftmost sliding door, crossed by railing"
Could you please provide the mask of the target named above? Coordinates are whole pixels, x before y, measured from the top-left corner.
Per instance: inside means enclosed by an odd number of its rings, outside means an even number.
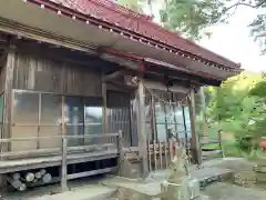
[[[37,138],[38,127],[12,127],[11,138]],[[12,141],[10,146],[11,151],[27,151],[37,149],[38,142],[35,140],[30,141]]]

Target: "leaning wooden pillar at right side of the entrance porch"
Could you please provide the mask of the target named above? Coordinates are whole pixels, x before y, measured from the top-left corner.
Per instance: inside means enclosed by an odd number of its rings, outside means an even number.
[[[202,164],[202,150],[198,141],[198,134],[196,132],[196,114],[195,114],[195,90],[191,89],[190,98],[188,98],[188,108],[190,108],[190,119],[191,119],[191,134],[192,134],[192,143],[191,151],[193,156],[193,160],[197,164]]]

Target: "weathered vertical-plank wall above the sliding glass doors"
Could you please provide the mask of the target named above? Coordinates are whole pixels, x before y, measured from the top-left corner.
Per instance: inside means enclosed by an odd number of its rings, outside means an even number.
[[[13,89],[73,96],[101,96],[101,73],[88,66],[19,51]]]

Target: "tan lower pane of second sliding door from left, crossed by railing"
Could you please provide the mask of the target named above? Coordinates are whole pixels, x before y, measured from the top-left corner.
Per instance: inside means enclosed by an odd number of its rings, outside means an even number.
[[[40,149],[47,148],[61,148],[61,139],[53,138],[54,136],[61,136],[61,128],[60,127],[40,127],[40,137],[50,137],[48,139],[40,139],[39,147]]]

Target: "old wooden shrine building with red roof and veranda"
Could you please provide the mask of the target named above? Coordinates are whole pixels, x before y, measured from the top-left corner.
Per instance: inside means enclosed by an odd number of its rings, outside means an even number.
[[[198,161],[194,93],[239,68],[109,0],[0,1],[2,183],[59,177],[63,136],[68,179],[111,171],[120,137],[143,173],[147,146],[172,134]]]

